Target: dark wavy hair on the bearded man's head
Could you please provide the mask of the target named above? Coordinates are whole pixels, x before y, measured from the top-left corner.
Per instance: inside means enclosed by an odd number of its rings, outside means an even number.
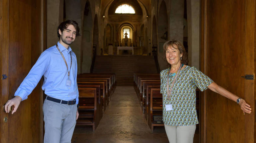
[[[74,20],[67,20],[67,21],[62,22],[57,28],[57,35],[58,35],[59,38],[61,38],[61,34],[59,33],[59,29],[61,29],[61,32],[63,32],[63,30],[66,29],[70,24],[75,27],[75,30],[76,30],[75,37],[80,36],[80,33],[79,33],[80,28],[78,27],[77,22],[74,21]]]

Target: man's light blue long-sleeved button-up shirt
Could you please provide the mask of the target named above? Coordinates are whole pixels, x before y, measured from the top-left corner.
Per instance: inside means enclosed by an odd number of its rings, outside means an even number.
[[[72,52],[70,46],[66,49],[59,42],[58,46],[65,57],[68,70],[70,70],[70,52],[72,55],[72,67],[69,76],[71,86],[66,85],[66,80],[68,79],[66,64],[56,45],[54,45],[40,55],[36,64],[16,90],[14,96],[20,96],[22,100],[27,99],[28,95],[33,91],[44,75],[42,89],[45,91],[46,95],[65,101],[76,99],[76,104],[78,104],[79,95],[76,82],[77,61],[75,53]]]

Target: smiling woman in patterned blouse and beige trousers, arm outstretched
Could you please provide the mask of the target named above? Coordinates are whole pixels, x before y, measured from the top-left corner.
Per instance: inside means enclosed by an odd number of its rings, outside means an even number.
[[[163,122],[170,143],[192,143],[198,119],[195,109],[195,90],[210,90],[237,102],[243,112],[250,114],[244,99],[217,85],[208,76],[187,64],[186,51],[178,40],[164,44],[165,59],[171,68],[161,71]]]

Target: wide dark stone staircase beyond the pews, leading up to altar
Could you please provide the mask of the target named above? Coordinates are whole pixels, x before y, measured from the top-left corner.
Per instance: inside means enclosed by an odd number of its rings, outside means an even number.
[[[157,73],[153,56],[96,56],[93,73],[115,73],[117,85],[133,85],[133,73]]]

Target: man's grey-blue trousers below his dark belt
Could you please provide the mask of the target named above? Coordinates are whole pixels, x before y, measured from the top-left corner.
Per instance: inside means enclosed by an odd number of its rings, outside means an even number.
[[[67,105],[45,100],[43,105],[44,143],[71,143],[76,124],[76,104]]]

